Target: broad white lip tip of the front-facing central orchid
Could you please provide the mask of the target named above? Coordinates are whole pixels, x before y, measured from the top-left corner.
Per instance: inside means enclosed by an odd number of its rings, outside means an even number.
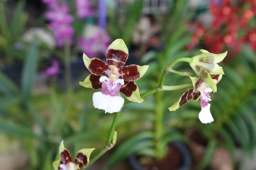
[[[105,113],[116,113],[124,106],[124,99],[120,96],[109,96],[102,92],[95,92],[92,96],[93,107],[104,110]]]

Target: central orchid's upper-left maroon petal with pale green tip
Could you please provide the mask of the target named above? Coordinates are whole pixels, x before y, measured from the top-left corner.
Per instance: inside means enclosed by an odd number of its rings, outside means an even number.
[[[90,59],[84,53],[83,55],[84,65],[86,68],[92,73],[97,76],[102,76],[106,71],[108,71],[108,65],[100,59],[92,58]]]

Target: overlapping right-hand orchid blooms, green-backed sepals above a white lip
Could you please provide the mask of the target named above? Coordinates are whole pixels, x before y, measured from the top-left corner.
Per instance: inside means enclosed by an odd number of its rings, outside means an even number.
[[[203,124],[208,124],[214,121],[210,106],[211,101],[210,93],[216,92],[216,85],[221,80],[224,72],[222,67],[218,65],[227,55],[227,52],[215,54],[209,53],[206,50],[200,50],[202,53],[191,58],[189,65],[195,71],[197,77],[190,77],[194,89],[189,89],[180,97],[179,101],[173,104],[170,111],[177,110],[180,106],[187,103],[190,99],[198,99],[200,97],[201,111],[198,114],[199,120]]]

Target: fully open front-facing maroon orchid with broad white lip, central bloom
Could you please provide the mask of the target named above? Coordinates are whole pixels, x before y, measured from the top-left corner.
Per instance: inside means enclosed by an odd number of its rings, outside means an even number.
[[[93,106],[105,113],[115,113],[121,110],[124,99],[121,92],[129,101],[141,103],[140,90],[134,82],[145,74],[148,66],[124,66],[128,58],[128,48],[122,39],[116,39],[109,45],[106,61],[83,55],[84,65],[92,73],[79,84],[86,88],[102,89],[93,94]]]

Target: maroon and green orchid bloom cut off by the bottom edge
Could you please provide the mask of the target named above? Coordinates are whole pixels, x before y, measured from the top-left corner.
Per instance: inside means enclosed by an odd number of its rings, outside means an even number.
[[[65,148],[63,141],[60,143],[60,160],[53,162],[55,170],[81,170],[86,167],[90,161],[89,157],[94,148],[81,149],[77,152],[76,159],[72,162],[72,157]]]

